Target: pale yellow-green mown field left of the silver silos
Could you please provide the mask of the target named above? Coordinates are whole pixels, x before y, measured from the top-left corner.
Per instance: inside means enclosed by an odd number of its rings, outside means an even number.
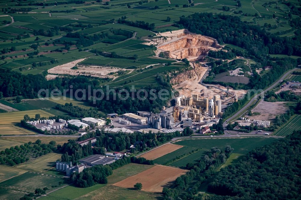
[[[55,166],[55,162],[58,159],[61,159],[61,156],[61,153],[48,153],[38,159],[19,164],[17,165],[17,168],[43,172],[53,168]]]

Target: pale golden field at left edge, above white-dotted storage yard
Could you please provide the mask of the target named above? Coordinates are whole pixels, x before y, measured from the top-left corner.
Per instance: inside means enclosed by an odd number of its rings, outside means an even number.
[[[43,110],[32,110],[32,111],[17,111],[9,113],[0,113],[0,125],[20,123],[24,119],[24,115],[34,118],[36,114],[40,114],[41,117],[54,116]]]

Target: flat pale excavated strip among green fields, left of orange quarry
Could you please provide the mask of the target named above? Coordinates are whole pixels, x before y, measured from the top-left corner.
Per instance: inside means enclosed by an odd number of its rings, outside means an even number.
[[[103,67],[103,66],[86,66],[86,65],[79,65],[79,62],[82,62],[86,58],[78,59],[72,62],[68,62],[63,65],[58,65],[54,68],[48,70],[48,75],[46,78],[54,79],[55,77],[63,74],[78,76],[78,75],[85,75],[85,76],[92,76],[92,77],[99,77],[99,78],[115,78],[114,75],[109,75],[111,72],[117,72],[120,70],[125,70],[121,68],[114,68],[114,67]],[[75,67],[75,68],[74,68]],[[74,68],[74,69],[72,69]]]

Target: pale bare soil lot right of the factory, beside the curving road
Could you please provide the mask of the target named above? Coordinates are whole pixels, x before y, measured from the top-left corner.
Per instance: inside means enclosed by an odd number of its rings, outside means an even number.
[[[260,115],[248,116],[250,120],[275,120],[276,115],[287,111],[287,102],[265,102],[261,101],[252,109],[252,112],[258,112]]]

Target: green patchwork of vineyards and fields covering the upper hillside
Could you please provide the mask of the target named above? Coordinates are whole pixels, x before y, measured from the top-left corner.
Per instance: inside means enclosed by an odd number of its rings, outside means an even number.
[[[177,30],[173,25],[180,17],[196,12],[235,15],[242,21],[265,26],[268,32],[281,37],[294,37],[287,5],[264,1],[251,4],[247,0],[240,3],[228,0],[195,0],[192,4],[179,0],[145,3],[116,0],[106,4],[90,0],[85,4],[35,0],[33,5],[0,2],[5,12],[0,19],[0,68],[43,74],[57,65],[95,53],[105,56],[104,59],[113,58],[101,65],[141,67],[147,63],[133,61],[154,55],[153,47],[141,44],[144,39],[153,38],[158,32]]]

